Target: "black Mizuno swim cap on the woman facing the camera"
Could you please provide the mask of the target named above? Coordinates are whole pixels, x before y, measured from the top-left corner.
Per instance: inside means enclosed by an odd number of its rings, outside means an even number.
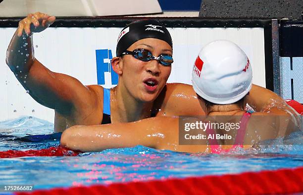
[[[164,25],[155,20],[144,19],[124,27],[118,37],[116,56],[119,57],[133,43],[146,38],[163,40],[172,48],[170,34]]]

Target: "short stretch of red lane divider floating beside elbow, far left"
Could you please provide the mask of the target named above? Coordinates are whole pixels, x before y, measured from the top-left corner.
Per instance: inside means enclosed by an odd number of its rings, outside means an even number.
[[[26,151],[6,150],[0,151],[0,158],[15,158],[22,156],[76,156],[79,151],[73,151],[66,147],[57,146],[46,149],[30,149]]]

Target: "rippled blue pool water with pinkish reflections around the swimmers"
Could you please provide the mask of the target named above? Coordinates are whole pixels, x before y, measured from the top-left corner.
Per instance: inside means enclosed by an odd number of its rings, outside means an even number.
[[[0,150],[41,149],[58,146],[59,139],[26,142],[28,135],[52,134],[53,124],[34,117],[0,122]],[[13,140],[13,138],[15,140]],[[89,186],[114,182],[222,175],[303,166],[303,133],[292,145],[262,146],[259,150],[224,155],[190,154],[145,146],[106,149],[78,156],[0,159],[0,185],[34,185],[34,189]]]

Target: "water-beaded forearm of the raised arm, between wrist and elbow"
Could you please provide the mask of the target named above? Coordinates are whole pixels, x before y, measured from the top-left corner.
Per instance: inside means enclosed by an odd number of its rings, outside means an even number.
[[[32,34],[25,32],[18,36],[18,31],[13,35],[6,51],[6,64],[19,79],[27,75],[34,62],[34,48]]]

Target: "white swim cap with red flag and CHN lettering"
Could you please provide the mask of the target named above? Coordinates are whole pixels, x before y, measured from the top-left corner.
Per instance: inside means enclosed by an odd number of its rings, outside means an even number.
[[[239,46],[227,40],[214,41],[202,48],[192,76],[195,92],[212,103],[234,103],[252,88],[249,58]]]

